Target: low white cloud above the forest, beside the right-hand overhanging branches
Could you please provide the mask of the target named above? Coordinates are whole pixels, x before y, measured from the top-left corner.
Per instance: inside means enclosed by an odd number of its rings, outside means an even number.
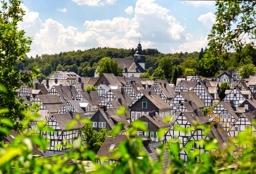
[[[205,48],[207,46],[208,39],[207,36],[200,36],[199,38],[196,38],[194,40],[191,40],[188,36],[188,42],[184,42],[181,45],[178,46],[178,49],[171,48],[170,51],[172,53],[179,53],[179,52],[194,52],[194,51],[200,51],[201,48]]]

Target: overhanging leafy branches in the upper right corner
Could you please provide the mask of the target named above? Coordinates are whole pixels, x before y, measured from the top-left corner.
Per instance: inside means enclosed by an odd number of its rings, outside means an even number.
[[[256,38],[256,1],[217,1],[216,22],[208,35],[208,50],[200,64],[214,72],[218,65],[225,65],[227,52],[242,48],[249,43],[254,47]]]

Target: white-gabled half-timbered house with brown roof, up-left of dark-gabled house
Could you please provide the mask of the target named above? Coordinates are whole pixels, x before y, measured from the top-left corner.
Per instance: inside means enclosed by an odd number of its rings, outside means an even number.
[[[110,89],[99,103],[99,106],[106,106],[110,100],[118,100],[119,98],[125,107],[128,107],[132,101],[131,97],[127,94],[124,88],[117,90]]]

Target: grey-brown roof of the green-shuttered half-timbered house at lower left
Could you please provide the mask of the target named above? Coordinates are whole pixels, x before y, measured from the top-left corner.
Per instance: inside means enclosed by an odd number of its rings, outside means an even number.
[[[68,123],[73,121],[73,120],[76,120],[76,117],[75,117],[76,114],[79,115],[78,123],[76,123],[74,126],[72,126],[71,129],[69,129],[69,130],[76,130],[76,129],[81,129],[84,126],[83,123],[80,123],[80,120],[86,118],[84,113],[52,114],[52,116],[55,118],[56,122],[60,126],[60,129],[62,131],[66,131]]]

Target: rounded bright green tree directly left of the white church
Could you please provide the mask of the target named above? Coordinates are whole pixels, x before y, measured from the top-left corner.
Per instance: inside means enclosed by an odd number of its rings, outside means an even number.
[[[98,62],[96,73],[98,73],[99,76],[101,76],[102,73],[113,73],[115,76],[123,76],[123,68],[118,67],[117,61],[110,57],[103,57]]]

